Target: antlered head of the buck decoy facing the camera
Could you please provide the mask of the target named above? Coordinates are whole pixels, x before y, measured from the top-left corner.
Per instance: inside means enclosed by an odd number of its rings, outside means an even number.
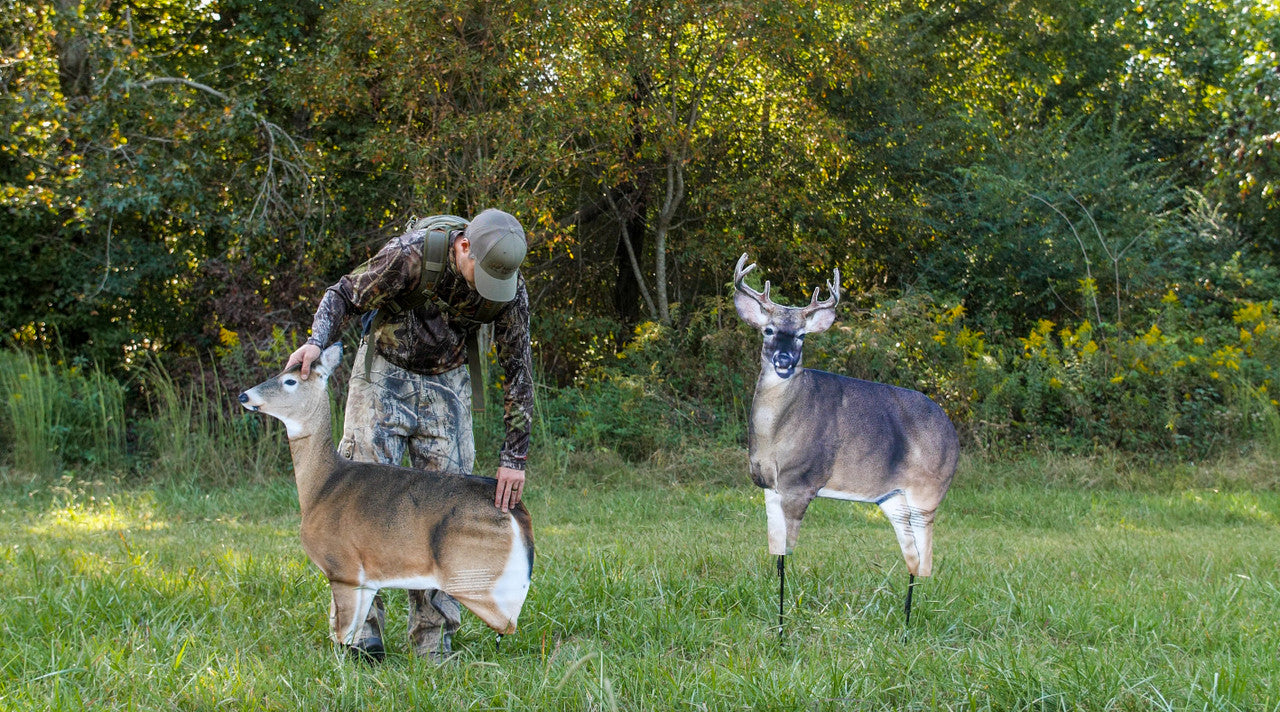
[[[745,265],[745,266],[744,266]],[[840,303],[840,269],[835,270],[827,291],[831,296],[818,301],[820,287],[813,291],[809,306],[782,306],[769,298],[769,283],[764,291],[756,292],[746,286],[746,275],[755,264],[746,264],[744,252],[733,269],[733,307],[744,321],[764,334],[760,359],[781,379],[791,378],[800,369],[805,334],[824,332],[836,321],[836,305]]]

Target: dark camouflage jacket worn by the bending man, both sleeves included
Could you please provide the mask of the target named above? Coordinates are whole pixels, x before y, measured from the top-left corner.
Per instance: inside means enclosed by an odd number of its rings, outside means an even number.
[[[376,255],[325,289],[311,323],[311,338],[321,348],[338,339],[353,315],[365,314],[407,295],[417,287],[422,271],[422,247],[426,231],[410,231],[388,242]],[[474,316],[481,298],[472,289],[448,251],[449,264],[436,284],[435,293],[461,316]],[[402,369],[434,375],[466,364],[466,334],[475,328],[465,320],[442,311],[434,301],[401,316],[390,316],[371,333],[370,342],[378,353]],[[493,339],[498,362],[506,374],[503,383],[503,423],[507,437],[499,453],[499,465],[525,469],[529,455],[529,430],[534,411],[532,353],[529,344],[529,292],[520,278],[516,298],[504,306],[493,323]]]

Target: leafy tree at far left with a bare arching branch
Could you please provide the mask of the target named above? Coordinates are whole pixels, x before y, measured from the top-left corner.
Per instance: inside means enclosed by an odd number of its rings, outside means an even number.
[[[289,6],[274,17],[298,17]],[[207,268],[314,228],[305,149],[262,97],[232,88],[264,91],[288,31],[246,36],[223,8],[239,4],[58,0],[5,14],[17,61],[0,106],[0,255],[20,268],[0,280],[0,303],[19,338],[56,337],[108,362],[198,348],[224,288]],[[305,33],[287,27],[294,42]]]

